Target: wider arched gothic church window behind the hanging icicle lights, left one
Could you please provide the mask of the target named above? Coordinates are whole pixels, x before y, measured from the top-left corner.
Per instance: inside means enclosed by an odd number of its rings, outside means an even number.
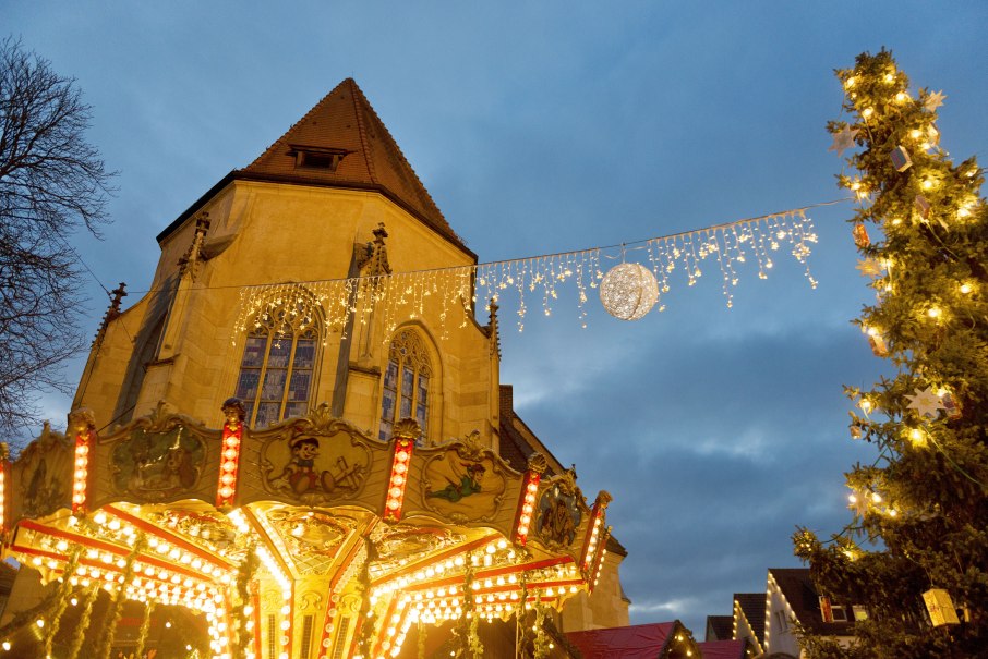
[[[275,296],[257,312],[237,378],[251,427],[309,413],[318,345],[315,303],[305,293]]]

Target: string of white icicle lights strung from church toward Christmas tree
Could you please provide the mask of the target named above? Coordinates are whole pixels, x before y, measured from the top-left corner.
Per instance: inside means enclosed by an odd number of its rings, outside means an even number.
[[[702,266],[713,257],[721,272],[725,303],[731,307],[732,289],[739,281],[737,264],[754,258],[759,279],[766,279],[774,266],[773,253],[783,246],[804,266],[804,276],[816,288],[808,257],[817,234],[806,211],[846,200],[577,252],[389,276],[242,286],[233,343],[237,337],[253,331],[290,335],[316,327],[327,330],[322,332],[325,342],[329,332],[346,338],[352,328],[368,326],[372,318],[383,321],[384,335],[389,337],[399,322],[421,318],[426,310],[437,314],[439,334],[445,339],[449,324],[460,312],[457,326],[466,326],[478,298],[502,307],[514,303],[515,322],[522,331],[529,302],[541,297],[543,314],[551,316],[559,288],[569,282],[576,288],[577,317],[581,327],[587,327],[588,289],[598,289],[604,277],[602,258],[619,258],[605,254],[616,247],[622,249],[620,258],[628,252],[644,252],[643,260],[656,278],[660,295],[671,290],[677,269],[685,272],[688,286],[696,284],[703,274]],[[664,309],[665,305],[660,304],[659,310]]]

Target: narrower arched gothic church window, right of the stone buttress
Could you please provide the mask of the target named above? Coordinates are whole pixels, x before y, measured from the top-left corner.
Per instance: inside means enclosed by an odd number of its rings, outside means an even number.
[[[422,435],[426,435],[432,376],[429,353],[422,338],[412,329],[399,331],[391,341],[387,369],[384,371],[378,432],[381,439],[390,439],[395,423],[406,417],[418,420]]]

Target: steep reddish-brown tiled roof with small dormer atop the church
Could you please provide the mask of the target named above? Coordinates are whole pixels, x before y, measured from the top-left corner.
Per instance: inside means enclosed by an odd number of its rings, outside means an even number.
[[[300,167],[300,154],[334,161]],[[233,170],[158,235],[158,242],[233,180],[372,190],[382,193],[477,260],[412,170],[352,78],[337,85],[248,167]]]

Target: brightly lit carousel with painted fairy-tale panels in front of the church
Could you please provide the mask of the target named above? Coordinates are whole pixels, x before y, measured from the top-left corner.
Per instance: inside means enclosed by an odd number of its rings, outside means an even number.
[[[243,411],[212,429],[160,404],[97,432],[77,410],[3,460],[4,558],[47,586],[2,648],[32,627],[58,659],[511,656],[499,625],[514,656],[568,656],[551,611],[593,590],[610,495],[588,504],[574,469],[535,453],[519,473],[477,436],[422,446],[412,419],[385,442],[325,404],[265,429]],[[156,611],[185,615],[172,654]]]

